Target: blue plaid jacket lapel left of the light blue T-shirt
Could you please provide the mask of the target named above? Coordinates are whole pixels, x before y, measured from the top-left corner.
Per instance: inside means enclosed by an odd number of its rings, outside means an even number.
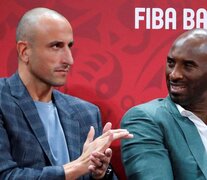
[[[43,124],[38,115],[36,106],[30,97],[27,89],[23,85],[18,74],[13,75],[8,79],[8,84],[11,89],[11,94],[15,97],[15,102],[19,105],[28,121],[33,133],[38,139],[43,151],[47,155],[51,164],[54,164],[54,159],[51,154],[49,144],[46,138]]]

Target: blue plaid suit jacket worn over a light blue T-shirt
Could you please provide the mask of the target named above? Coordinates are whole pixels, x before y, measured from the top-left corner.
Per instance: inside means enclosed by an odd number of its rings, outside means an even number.
[[[72,161],[81,155],[90,126],[96,136],[102,132],[99,109],[56,90],[53,100]],[[63,168],[53,164],[44,127],[19,75],[0,79],[0,179],[64,179]]]

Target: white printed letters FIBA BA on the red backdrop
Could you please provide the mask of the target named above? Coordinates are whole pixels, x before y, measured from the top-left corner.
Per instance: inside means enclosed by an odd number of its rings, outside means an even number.
[[[135,8],[135,29],[177,29],[177,12],[174,8]],[[207,10],[184,8],[182,12],[183,29],[207,29]]]

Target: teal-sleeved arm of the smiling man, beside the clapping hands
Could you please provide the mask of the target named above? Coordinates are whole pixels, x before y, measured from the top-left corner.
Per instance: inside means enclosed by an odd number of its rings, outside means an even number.
[[[122,160],[128,179],[172,180],[173,173],[164,137],[155,117],[140,107],[129,110],[121,127],[134,135],[122,140]]]

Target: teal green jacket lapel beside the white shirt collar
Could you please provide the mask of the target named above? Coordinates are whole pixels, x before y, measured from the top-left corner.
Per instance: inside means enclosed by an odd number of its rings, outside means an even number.
[[[196,126],[187,117],[181,116],[177,107],[169,97],[167,98],[166,106],[182,129],[186,142],[188,143],[198,166],[207,179],[207,154]]]

